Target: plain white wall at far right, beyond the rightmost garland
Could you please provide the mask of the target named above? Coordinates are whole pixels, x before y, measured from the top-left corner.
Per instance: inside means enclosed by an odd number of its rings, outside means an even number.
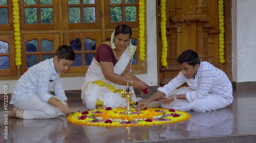
[[[233,81],[256,81],[256,1],[233,1],[236,8],[232,12],[233,47],[232,47],[232,71]],[[236,9],[236,10],[235,10]],[[237,33],[235,32],[237,31]]]

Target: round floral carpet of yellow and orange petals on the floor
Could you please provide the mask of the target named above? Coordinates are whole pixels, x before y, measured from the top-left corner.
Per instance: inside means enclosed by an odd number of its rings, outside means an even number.
[[[166,108],[146,108],[136,112],[131,108],[133,115],[123,115],[125,108],[111,110],[99,109],[76,112],[68,116],[68,121],[74,124],[88,126],[154,126],[170,124],[188,120],[190,115],[184,111]],[[156,118],[157,117],[157,118]],[[140,121],[136,120],[140,119]]]

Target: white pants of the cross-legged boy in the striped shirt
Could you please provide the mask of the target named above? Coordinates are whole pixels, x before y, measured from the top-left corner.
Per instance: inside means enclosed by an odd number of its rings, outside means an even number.
[[[189,87],[183,87],[183,88],[174,90],[172,93],[169,94],[169,96],[173,94],[177,94],[177,95],[185,94],[189,91],[193,91],[193,90],[191,90]],[[217,96],[208,94],[206,98],[196,99],[192,102],[178,99],[176,101],[170,102],[170,104],[161,103],[161,107],[172,108],[172,109],[182,110],[182,111],[193,110],[193,111],[205,112],[205,111],[222,109],[222,108],[225,108],[226,105],[224,105]]]

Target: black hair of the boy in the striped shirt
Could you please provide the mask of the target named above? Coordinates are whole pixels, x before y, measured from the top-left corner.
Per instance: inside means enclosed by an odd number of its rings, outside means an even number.
[[[191,49],[182,52],[182,54],[179,55],[179,57],[177,58],[177,62],[179,64],[187,63],[188,65],[193,67],[195,67],[197,64],[200,65],[201,63],[198,54]]]

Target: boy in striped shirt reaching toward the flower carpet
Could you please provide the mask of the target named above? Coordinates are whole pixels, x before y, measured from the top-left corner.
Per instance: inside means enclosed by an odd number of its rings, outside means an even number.
[[[164,108],[201,112],[225,108],[232,103],[232,85],[222,70],[201,62],[198,54],[190,49],[184,51],[177,61],[180,73],[146,101],[138,103],[137,110],[157,99],[162,99],[161,107]],[[185,82],[188,87],[177,89]]]

